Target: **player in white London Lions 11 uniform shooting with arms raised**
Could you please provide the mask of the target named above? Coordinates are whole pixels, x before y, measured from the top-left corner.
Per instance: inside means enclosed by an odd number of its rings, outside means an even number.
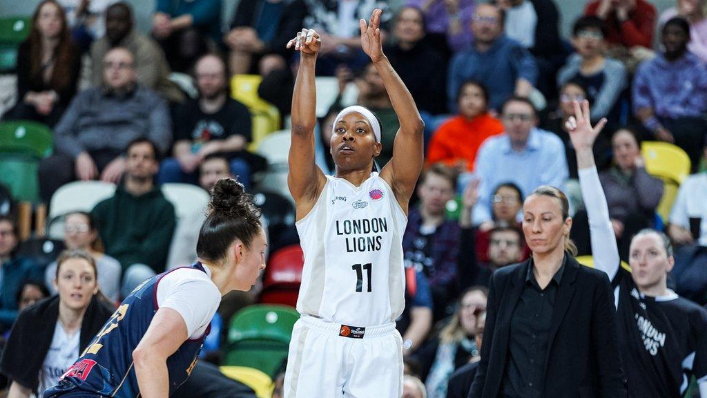
[[[393,157],[380,174],[380,123],[351,106],[334,121],[336,176],[315,165],[315,63],[321,38],[303,29],[288,43],[301,60],[292,99],[288,186],[305,254],[284,395],[402,396],[402,339],[395,319],[404,302],[402,236],[423,164],[420,118],[409,91],[382,53],[380,10],[361,20],[361,47],[400,121]]]

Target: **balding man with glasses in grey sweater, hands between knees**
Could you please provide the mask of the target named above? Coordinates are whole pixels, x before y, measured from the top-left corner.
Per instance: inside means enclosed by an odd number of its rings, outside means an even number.
[[[148,137],[164,153],[171,129],[165,101],[137,83],[132,53],[113,48],[103,58],[103,84],[78,94],[54,129],[56,152],[40,163],[42,199],[49,203],[75,179],[117,183],[129,142]]]

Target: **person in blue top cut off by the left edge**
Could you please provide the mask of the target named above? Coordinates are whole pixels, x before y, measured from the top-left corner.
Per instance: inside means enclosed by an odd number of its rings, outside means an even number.
[[[42,280],[42,271],[31,258],[17,256],[17,225],[0,216],[0,333],[11,328],[18,313],[18,290],[25,280]]]

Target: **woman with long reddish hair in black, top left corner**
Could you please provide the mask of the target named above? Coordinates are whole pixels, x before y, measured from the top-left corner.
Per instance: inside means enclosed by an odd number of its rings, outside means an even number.
[[[76,94],[81,55],[71,40],[62,6],[43,0],[32,16],[30,36],[17,55],[17,103],[5,118],[53,127]]]

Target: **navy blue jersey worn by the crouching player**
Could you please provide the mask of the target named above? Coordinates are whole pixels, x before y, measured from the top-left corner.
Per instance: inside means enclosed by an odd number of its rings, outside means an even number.
[[[205,272],[201,263],[192,267]],[[44,397],[137,397],[139,388],[132,353],[157,312],[157,285],[172,271],[153,276],[135,288],[59,379],[59,385],[49,388]],[[192,373],[209,330],[199,339],[182,343],[167,359],[170,395]]]

